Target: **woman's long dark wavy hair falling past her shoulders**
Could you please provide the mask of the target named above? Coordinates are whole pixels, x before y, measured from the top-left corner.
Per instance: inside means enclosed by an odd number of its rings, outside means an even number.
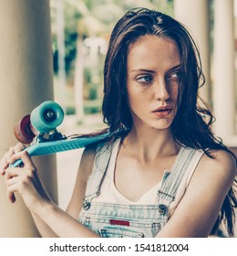
[[[108,130],[113,133],[131,129],[132,118],[126,90],[127,57],[131,44],[146,35],[169,38],[180,50],[181,78],[177,114],[170,126],[175,141],[191,148],[202,149],[210,157],[213,157],[211,150],[222,149],[232,154],[211,132],[211,123],[214,118],[198,94],[205,79],[201,69],[199,50],[190,33],[172,17],[147,8],[132,9],[122,16],[109,40],[104,67],[102,104],[104,122],[108,124]],[[237,208],[234,190],[236,183],[235,179],[224,199],[219,218],[211,233],[214,233],[219,223],[224,220],[229,235],[233,236],[234,208]]]

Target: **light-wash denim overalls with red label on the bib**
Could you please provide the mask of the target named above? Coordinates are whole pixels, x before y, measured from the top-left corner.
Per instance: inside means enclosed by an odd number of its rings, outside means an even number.
[[[98,144],[91,176],[88,178],[86,196],[78,221],[104,238],[152,238],[170,219],[170,203],[175,199],[180,182],[195,149],[180,148],[170,172],[165,171],[157,191],[156,205],[120,205],[93,202],[107,173],[113,144]],[[197,155],[196,155],[197,157]],[[201,156],[198,156],[201,157]],[[109,193],[109,191],[108,191]]]

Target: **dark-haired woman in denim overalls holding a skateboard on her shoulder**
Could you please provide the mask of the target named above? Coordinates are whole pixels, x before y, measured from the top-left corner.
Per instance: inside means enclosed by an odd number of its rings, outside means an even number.
[[[22,144],[2,159],[10,200],[21,194],[43,237],[207,237],[222,219],[232,236],[236,159],[198,104],[201,80],[185,27],[130,10],[111,34],[104,69],[102,111],[113,135],[85,149],[67,212],[18,152]],[[18,158],[24,167],[7,168]]]

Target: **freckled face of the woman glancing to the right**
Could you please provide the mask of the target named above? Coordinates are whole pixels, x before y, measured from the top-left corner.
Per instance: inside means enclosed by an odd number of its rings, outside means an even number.
[[[180,52],[174,41],[141,37],[129,48],[127,91],[134,125],[167,129],[176,113]]]

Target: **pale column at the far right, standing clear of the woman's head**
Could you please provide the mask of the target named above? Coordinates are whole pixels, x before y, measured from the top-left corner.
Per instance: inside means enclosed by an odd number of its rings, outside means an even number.
[[[214,21],[214,130],[227,142],[235,132],[233,0],[214,1]]]

